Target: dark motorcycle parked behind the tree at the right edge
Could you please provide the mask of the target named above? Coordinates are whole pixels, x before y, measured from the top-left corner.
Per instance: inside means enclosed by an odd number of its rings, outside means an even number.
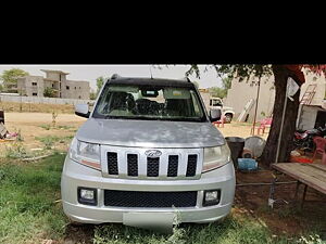
[[[305,131],[297,130],[293,138],[293,147],[303,150],[304,152],[313,152],[315,150],[315,137],[326,137],[326,127]]]

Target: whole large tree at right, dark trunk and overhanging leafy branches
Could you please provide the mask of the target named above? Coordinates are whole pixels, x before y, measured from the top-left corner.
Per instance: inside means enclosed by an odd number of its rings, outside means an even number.
[[[268,133],[267,142],[264,147],[264,152],[261,156],[262,163],[269,165],[275,162],[275,155],[277,151],[278,134],[280,131],[280,124],[283,117],[284,101],[286,98],[287,79],[291,77],[299,87],[304,82],[304,75],[301,70],[302,67],[308,68],[314,74],[326,75],[326,65],[278,65],[278,64],[223,64],[223,65],[208,65],[215,68],[217,75],[237,78],[239,82],[242,80],[249,80],[250,78],[256,77],[261,79],[264,76],[274,75],[275,86],[275,103],[273,108],[273,123],[271,131]],[[199,66],[192,64],[186,75],[196,74],[200,77]],[[225,82],[227,85],[227,82]],[[280,141],[279,162],[288,162],[290,152],[292,150],[293,133],[296,131],[296,120],[299,108],[299,95],[297,92],[293,95],[293,101],[287,104],[286,115],[287,119],[283,126],[283,140]]]

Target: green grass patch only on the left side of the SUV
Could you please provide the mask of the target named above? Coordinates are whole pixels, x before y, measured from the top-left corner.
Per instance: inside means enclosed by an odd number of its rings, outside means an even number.
[[[67,219],[55,203],[63,157],[0,165],[0,243],[41,243],[63,236]]]

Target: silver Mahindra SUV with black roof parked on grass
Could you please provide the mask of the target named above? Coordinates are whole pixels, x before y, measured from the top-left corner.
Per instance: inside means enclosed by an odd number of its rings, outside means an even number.
[[[190,80],[109,79],[70,146],[64,213],[75,222],[211,222],[230,211],[235,170]]]

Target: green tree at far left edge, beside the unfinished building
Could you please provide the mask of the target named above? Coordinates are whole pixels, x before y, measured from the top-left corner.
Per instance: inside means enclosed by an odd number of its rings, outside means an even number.
[[[8,92],[17,92],[17,79],[18,77],[28,76],[28,72],[21,68],[11,68],[3,70],[0,76],[0,80],[3,84],[3,90]]]

